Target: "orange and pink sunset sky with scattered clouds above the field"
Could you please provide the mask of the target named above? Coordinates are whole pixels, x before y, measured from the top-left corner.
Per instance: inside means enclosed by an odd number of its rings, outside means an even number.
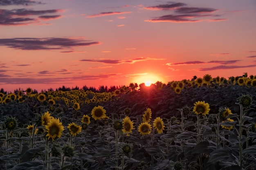
[[[0,88],[256,75],[256,1],[0,2]]]

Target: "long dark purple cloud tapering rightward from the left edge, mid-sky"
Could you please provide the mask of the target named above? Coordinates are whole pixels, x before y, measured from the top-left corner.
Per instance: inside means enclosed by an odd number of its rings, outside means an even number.
[[[90,46],[100,42],[73,38],[10,38],[0,39],[0,46],[22,50],[65,49],[74,46]]]

